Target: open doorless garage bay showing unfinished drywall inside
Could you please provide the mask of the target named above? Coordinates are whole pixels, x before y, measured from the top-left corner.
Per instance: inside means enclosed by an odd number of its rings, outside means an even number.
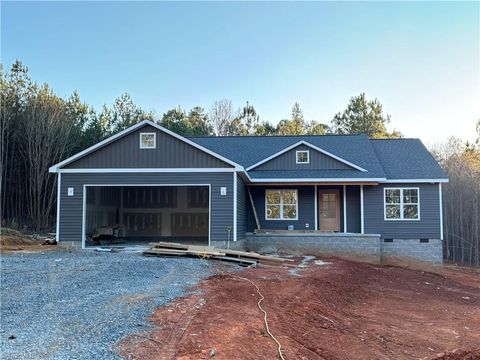
[[[209,186],[86,186],[85,246],[209,244]]]

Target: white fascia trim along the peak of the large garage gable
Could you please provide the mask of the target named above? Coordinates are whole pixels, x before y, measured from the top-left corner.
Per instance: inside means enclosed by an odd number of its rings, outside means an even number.
[[[90,146],[89,148],[87,148],[83,151],[80,151],[79,153],[69,157],[68,159],[65,159],[65,160],[59,162],[58,164],[53,165],[52,167],[50,167],[49,172],[51,172],[51,173],[58,172],[59,168],[61,168],[62,166],[67,165],[67,164],[71,163],[72,161],[75,161],[75,160],[81,158],[82,156],[87,155],[87,154],[91,153],[92,151],[94,151],[94,150],[96,150],[96,149],[98,149],[98,148],[100,148],[104,145],[107,145],[108,143],[110,143],[110,142],[112,142],[112,141],[130,133],[130,132],[135,131],[138,128],[141,128],[144,125],[151,125],[154,128],[156,128],[160,131],[163,131],[164,133],[166,133],[170,136],[173,136],[176,139],[179,139],[179,140],[181,140],[181,141],[183,141],[183,142],[185,142],[185,143],[187,143],[187,144],[189,144],[189,145],[191,145],[191,146],[193,146],[193,147],[195,147],[199,150],[202,150],[203,152],[205,152],[209,155],[212,155],[213,157],[216,157],[217,159],[220,159],[220,160],[226,162],[227,164],[230,164],[230,165],[234,166],[237,170],[244,170],[243,166],[241,166],[241,165],[237,164],[236,162],[234,162],[232,160],[229,160],[229,159],[217,154],[216,152],[213,152],[212,150],[209,150],[209,149],[197,144],[196,142],[193,142],[193,141],[191,141],[191,140],[189,140],[189,139],[187,139],[187,138],[185,138],[181,135],[178,135],[177,133],[174,133],[173,131],[166,129],[163,126],[155,124],[153,121],[143,120],[143,121],[140,121],[138,124],[132,125],[129,128],[120,131],[118,134],[110,136],[109,138],[106,138],[105,140],[100,141],[98,144]]]

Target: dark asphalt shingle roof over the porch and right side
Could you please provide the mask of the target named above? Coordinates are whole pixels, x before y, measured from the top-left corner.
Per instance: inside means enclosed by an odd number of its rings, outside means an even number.
[[[367,170],[343,170],[342,178],[444,179],[447,176],[418,139],[372,140],[366,135],[190,137],[245,168],[305,141]],[[338,171],[338,170],[337,170]],[[249,171],[252,178],[331,178],[334,170]]]

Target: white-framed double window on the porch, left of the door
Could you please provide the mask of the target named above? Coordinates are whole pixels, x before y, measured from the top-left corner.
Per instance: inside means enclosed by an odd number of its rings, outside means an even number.
[[[266,190],[265,219],[267,220],[297,220],[298,196],[297,190]]]

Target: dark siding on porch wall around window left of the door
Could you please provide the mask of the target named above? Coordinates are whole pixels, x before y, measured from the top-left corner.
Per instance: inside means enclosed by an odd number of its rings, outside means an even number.
[[[315,202],[314,186],[250,186],[252,198],[257,210],[260,227],[262,229],[284,229],[293,225],[295,230],[315,230]],[[265,190],[266,189],[297,189],[298,190],[298,220],[266,220],[265,219]],[[248,194],[247,194],[248,196]],[[256,228],[255,218],[251,206],[248,211],[249,231]],[[307,228],[305,225],[309,224]]]

